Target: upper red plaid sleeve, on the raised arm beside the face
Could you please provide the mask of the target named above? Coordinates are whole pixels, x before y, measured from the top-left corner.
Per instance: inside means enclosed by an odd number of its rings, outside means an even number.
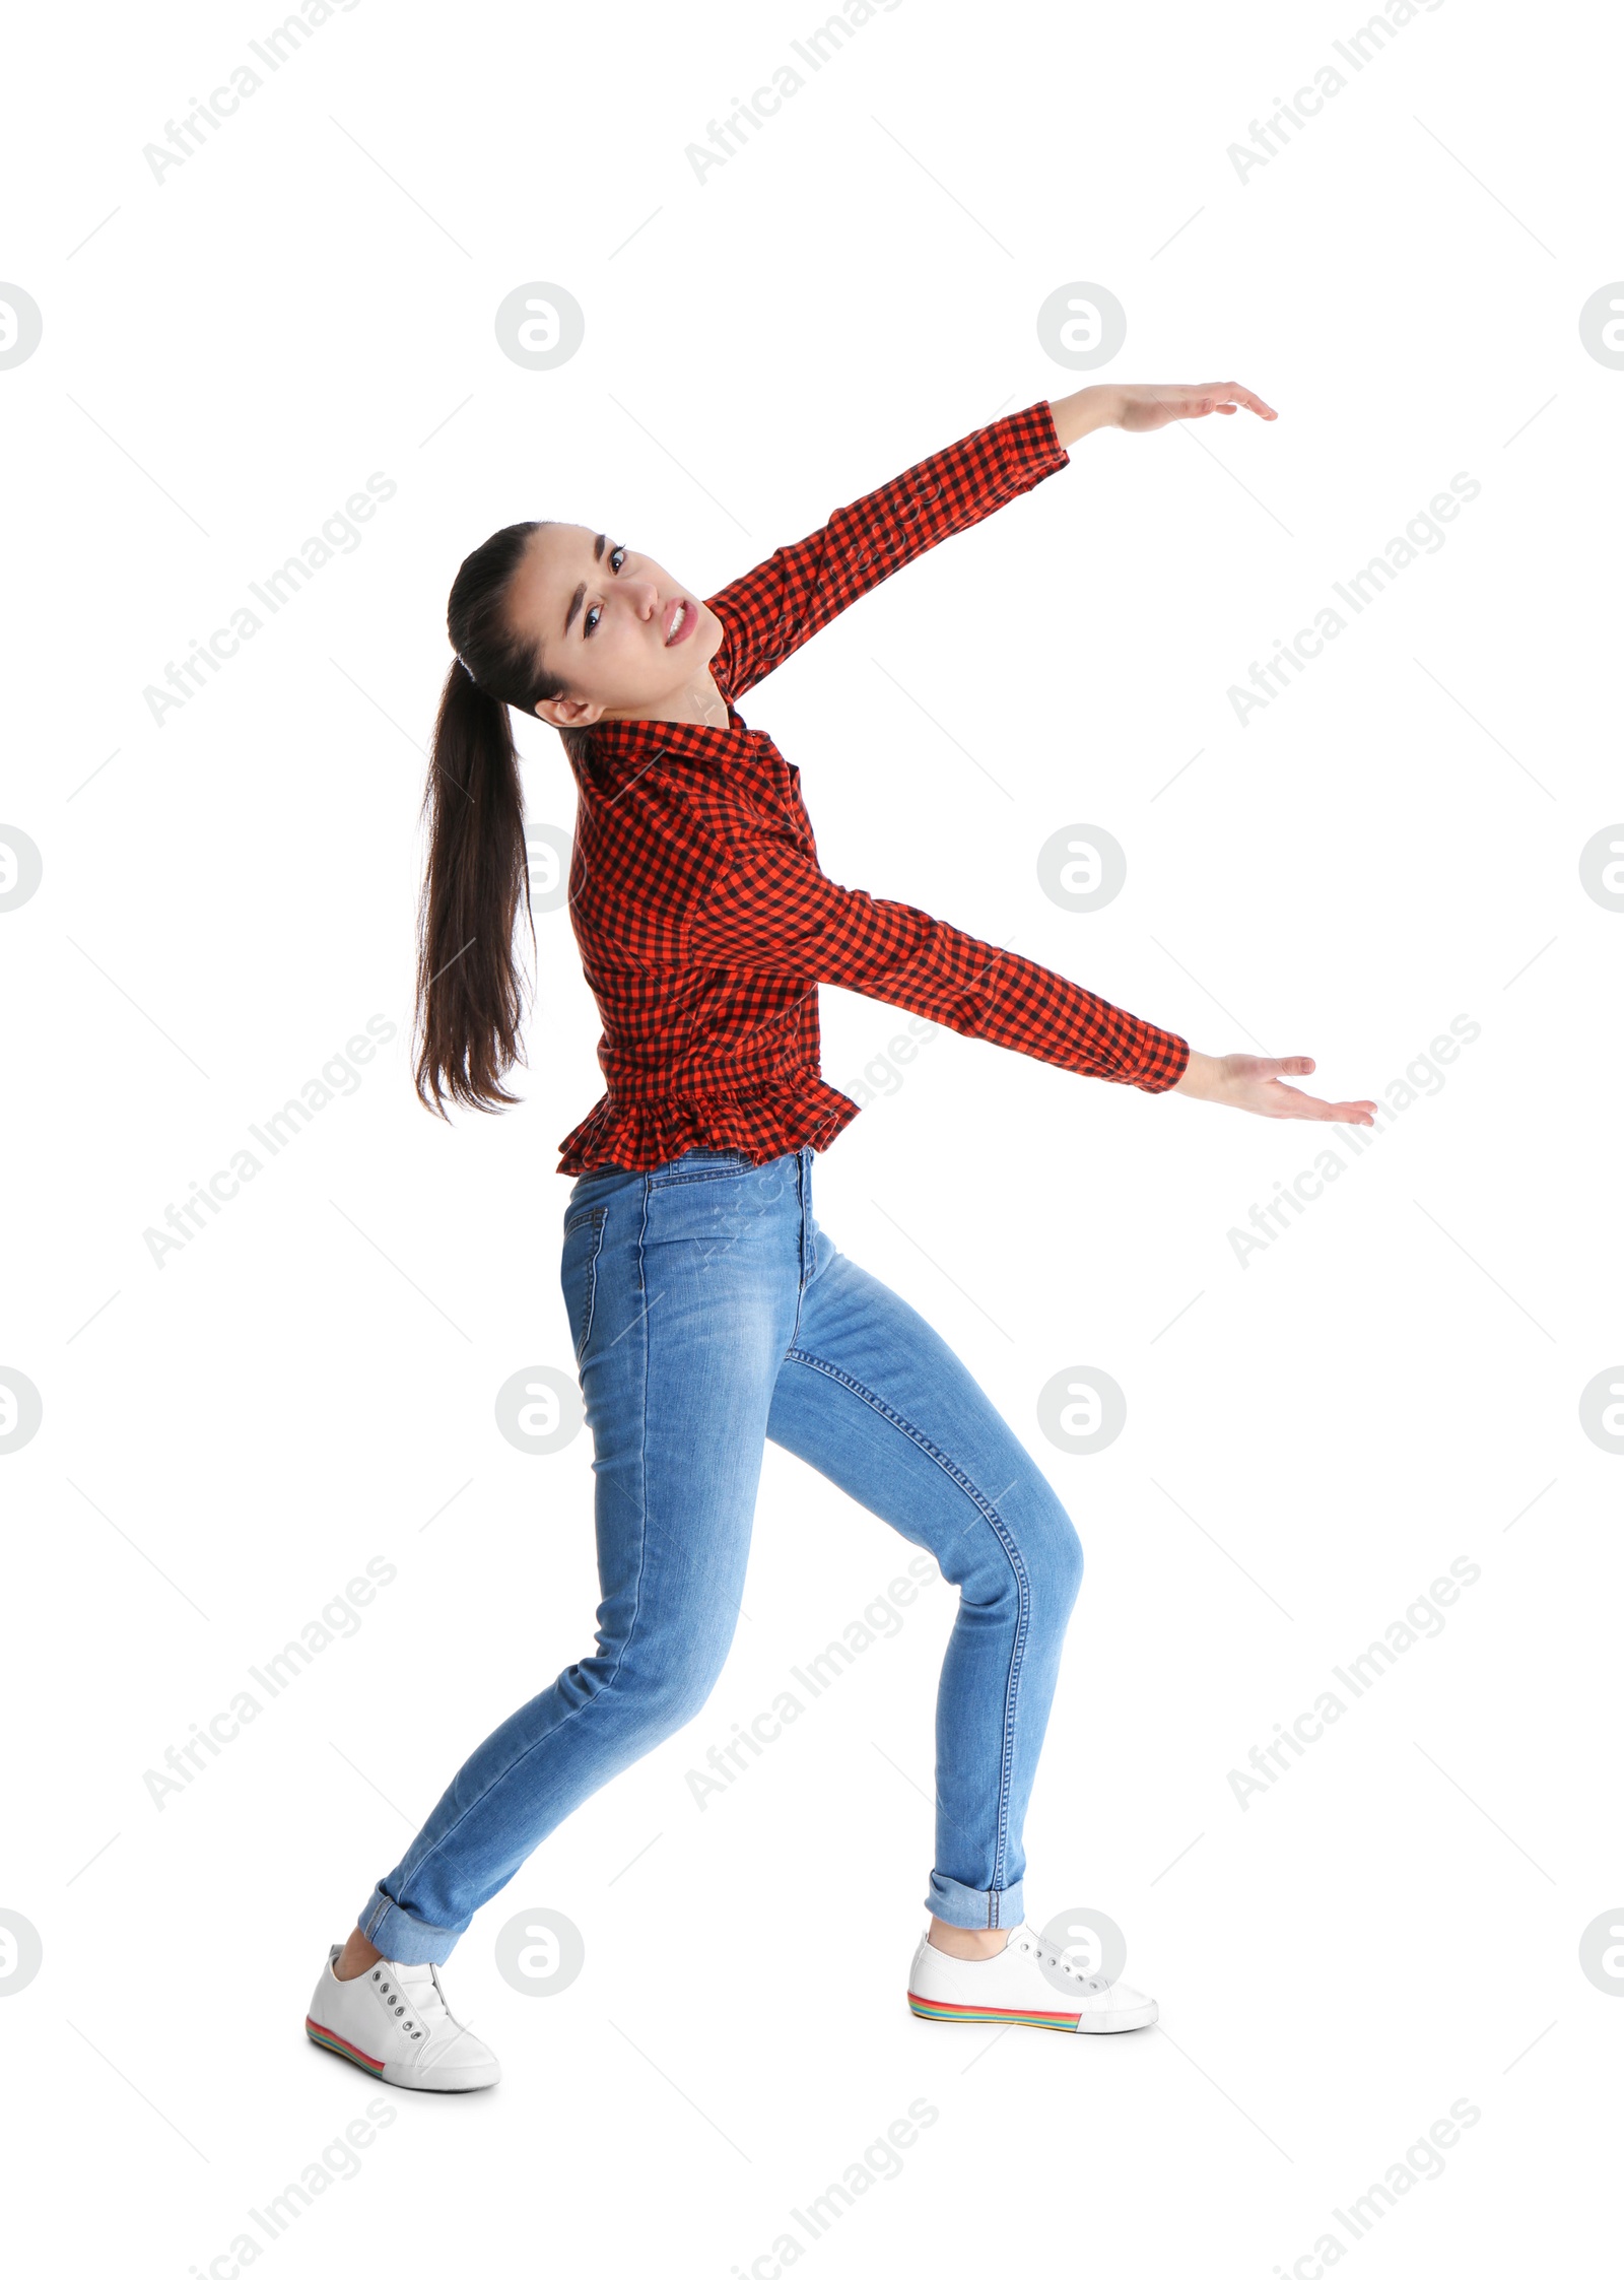
[[[974,429],[851,506],[837,506],[810,538],[778,547],[709,595],[707,609],[728,636],[712,659],[718,682],[732,698],[744,695],[892,570],[1067,463],[1045,399]]]

